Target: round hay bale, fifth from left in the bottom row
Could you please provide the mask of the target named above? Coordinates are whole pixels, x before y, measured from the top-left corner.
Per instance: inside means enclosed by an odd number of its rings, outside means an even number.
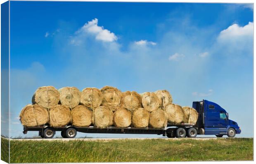
[[[128,127],[132,123],[132,113],[125,108],[114,112],[114,125],[116,127]]]

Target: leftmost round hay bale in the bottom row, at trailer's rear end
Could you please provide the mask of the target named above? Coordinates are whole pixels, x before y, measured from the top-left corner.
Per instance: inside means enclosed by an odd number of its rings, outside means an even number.
[[[49,120],[49,113],[47,109],[38,104],[28,104],[21,110],[19,117],[22,125],[34,127],[46,124]]]

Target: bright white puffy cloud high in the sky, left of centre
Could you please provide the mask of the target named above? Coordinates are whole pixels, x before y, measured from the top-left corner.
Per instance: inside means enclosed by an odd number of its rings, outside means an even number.
[[[114,42],[118,39],[113,32],[104,29],[103,26],[98,26],[97,18],[93,19],[92,21],[88,21],[88,23],[85,23],[85,25],[83,25],[83,27],[76,33],[79,34],[80,32],[93,34],[95,35],[95,39],[101,40],[103,42]]]

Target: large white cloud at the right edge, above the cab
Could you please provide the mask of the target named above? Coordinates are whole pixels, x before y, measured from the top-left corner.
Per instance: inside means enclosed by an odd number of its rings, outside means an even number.
[[[237,40],[243,39],[244,37],[253,36],[254,32],[254,23],[249,22],[244,27],[239,26],[238,24],[230,25],[227,29],[222,30],[218,36],[219,42],[225,42],[227,40]]]

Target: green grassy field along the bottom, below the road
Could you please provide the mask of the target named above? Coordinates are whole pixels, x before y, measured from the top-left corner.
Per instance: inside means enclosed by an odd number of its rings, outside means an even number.
[[[7,142],[3,140],[2,142]],[[1,144],[2,144],[1,142]],[[253,160],[253,139],[14,141],[11,163]]]

